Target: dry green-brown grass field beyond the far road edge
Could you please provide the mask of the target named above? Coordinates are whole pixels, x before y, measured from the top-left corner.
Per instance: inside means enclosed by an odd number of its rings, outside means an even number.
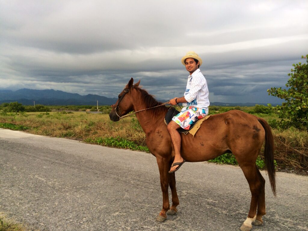
[[[228,111],[233,108],[215,107],[211,114]],[[243,107],[251,111],[251,107]],[[273,114],[256,114],[265,120],[278,119]],[[128,148],[149,152],[145,134],[135,116],[112,122],[107,114],[91,114],[77,112],[27,112],[0,113],[0,128],[27,131],[32,134],[63,137],[81,140],[91,144],[99,144],[116,148]],[[275,135],[275,159],[279,168],[308,170],[308,133],[297,129],[273,129]],[[230,153],[219,156],[210,162],[237,165]],[[258,168],[264,168],[263,156],[256,162]]]

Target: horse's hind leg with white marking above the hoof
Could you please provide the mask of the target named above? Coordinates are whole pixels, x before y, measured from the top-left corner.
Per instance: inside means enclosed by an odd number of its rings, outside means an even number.
[[[250,192],[251,192],[251,202],[250,202],[250,209],[249,209],[248,217],[244,221],[240,230],[241,231],[249,231],[252,228],[252,224],[256,223],[255,221],[256,221],[256,214],[257,214],[257,205],[258,205],[259,198],[262,198],[262,196],[261,196],[261,194],[262,194],[262,181],[261,181],[260,176],[257,172],[257,166],[256,166],[255,163],[253,163],[253,164],[239,163],[239,164],[241,166],[241,169],[244,172],[246,180],[248,181]],[[260,209],[262,209],[262,205],[260,207],[261,207]],[[264,208],[264,210],[265,210],[265,208]],[[260,213],[261,212],[263,212],[263,211],[260,211]]]

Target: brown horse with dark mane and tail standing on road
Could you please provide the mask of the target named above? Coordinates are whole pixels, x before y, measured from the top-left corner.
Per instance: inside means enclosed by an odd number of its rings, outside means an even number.
[[[119,100],[109,114],[112,121],[118,121],[120,116],[130,111],[161,105],[152,95],[133,84],[131,79],[119,95]],[[173,145],[164,124],[164,116],[168,107],[164,105],[136,113],[139,123],[146,135],[146,143],[150,152],[156,157],[160,185],[163,192],[163,208],[157,221],[164,221],[168,215],[177,212],[179,199],[176,193],[175,173],[168,171],[174,158]],[[210,136],[209,136],[210,134]],[[252,225],[261,225],[265,215],[265,180],[256,166],[257,156],[265,140],[264,157],[270,184],[276,195],[274,170],[274,141],[270,126],[265,120],[242,111],[228,111],[212,115],[206,120],[196,135],[181,134],[181,155],[188,162],[198,162],[213,159],[224,153],[232,152],[248,181],[251,191],[251,203],[247,219],[240,230],[247,231]],[[191,152],[194,144],[194,152]],[[172,192],[172,206],[169,207],[168,186]]]

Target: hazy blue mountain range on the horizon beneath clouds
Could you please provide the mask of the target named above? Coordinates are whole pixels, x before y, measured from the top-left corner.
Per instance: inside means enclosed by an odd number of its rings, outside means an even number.
[[[68,93],[65,91],[51,90],[33,90],[33,89],[19,89],[17,91],[0,90],[0,104],[18,102],[23,105],[96,105],[97,100],[99,105],[111,105],[117,101],[117,98],[107,98],[100,95],[79,95],[77,93]],[[168,100],[157,99],[161,102]],[[216,106],[254,106],[256,103],[221,103],[211,102],[211,105]],[[258,103],[267,105],[266,103]]]

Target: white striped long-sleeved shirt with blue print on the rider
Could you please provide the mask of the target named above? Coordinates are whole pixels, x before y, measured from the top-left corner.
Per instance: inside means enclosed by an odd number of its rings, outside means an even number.
[[[198,68],[192,75],[188,76],[184,98],[188,103],[183,103],[183,107],[193,106],[198,108],[207,108],[209,102],[209,89],[204,75]]]

